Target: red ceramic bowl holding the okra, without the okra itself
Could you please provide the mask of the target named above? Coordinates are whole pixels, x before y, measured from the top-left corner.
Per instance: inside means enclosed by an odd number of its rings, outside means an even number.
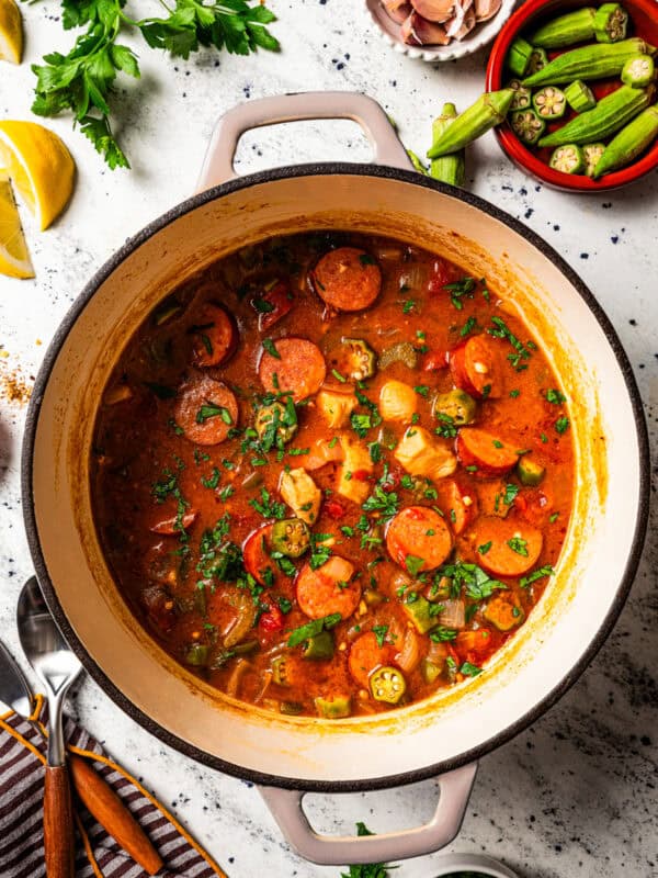
[[[647,43],[658,46],[658,3],[656,0],[621,0],[621,2],[631,16],[628,34],[631,36],[640,36]],[[587,2],[587,0],[527,0],[527,2],[523,3],[511,19],[506,22],[494,43],[489,64],[487,65],[487,91],[497,91],[504,87],[508,79],[511,79],[509,71],[506,69],[504,59],[511,43],[519,34],[530,33],[544,21],[561,15],[572,9],[592,4],[598,5],[599,2],[592,3]],[[552,53],[548,53],[548,57],[553,57]],[[600,80],[590,85],[592,85],[594,94],[601,98],[612,90],[613,81]],[[571,176],[553,170],[548,166],[551,150],[531,151],[519,140],[509,125],[501,125],[496,128],[496,136],[501,149],[507,153],[509,158],[521,170],[531,173],[537,180],[555,189],[561,189],[566,192],[603,192],[608,189],[619,189],[622,185],[639,180],[645,173],[649,173],[649,171],[658,167],[658,140],[633,165],[612,173],[606,173],[600,180],[592,180],[585,175]]]

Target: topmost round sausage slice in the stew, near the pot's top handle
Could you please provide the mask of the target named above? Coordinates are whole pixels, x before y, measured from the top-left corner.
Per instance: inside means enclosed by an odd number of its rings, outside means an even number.
[[[339,247],[319,260],[313,272],[317,294],[338,311],[363,311],[382,289],[379,266],[365,250]]]

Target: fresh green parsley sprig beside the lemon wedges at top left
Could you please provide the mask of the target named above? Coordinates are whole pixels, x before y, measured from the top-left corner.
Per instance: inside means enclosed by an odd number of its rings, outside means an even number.
[[[112,95],[120,74],[139,79],[137,56],[117,42],[120,33],[137,29],[151,48],[189,58],[202,46],[215,46],[237,55],[258,48],[279,49],[266,25],[275,15],[253,0],[160,0],[166,15],[136,20],[125,12],[126,0],[61,0],[65,30],[86,27],[67,55],[53,52],[34,65],[35,99],[32,111],[56,116],[70,110],[75,124],[88,137],[110,168],[129,168],[128,159],[112,131]]]

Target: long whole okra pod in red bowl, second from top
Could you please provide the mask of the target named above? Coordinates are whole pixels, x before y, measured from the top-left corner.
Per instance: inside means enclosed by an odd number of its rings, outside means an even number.
[[[605,79],[609,76],[619,76],[628,58],[655,53],[654,46],[639,37],[621,43],[581,46],[565,52],[522,81],[524,86],[559,86],[575,79]]]

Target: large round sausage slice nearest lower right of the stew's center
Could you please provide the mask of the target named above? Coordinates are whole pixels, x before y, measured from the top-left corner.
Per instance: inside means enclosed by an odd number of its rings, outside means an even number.
[[[388,554],[410,573],[439,567],[451,553],[452,543],[447,525],[428,506],[407,506],[386,531]]]

